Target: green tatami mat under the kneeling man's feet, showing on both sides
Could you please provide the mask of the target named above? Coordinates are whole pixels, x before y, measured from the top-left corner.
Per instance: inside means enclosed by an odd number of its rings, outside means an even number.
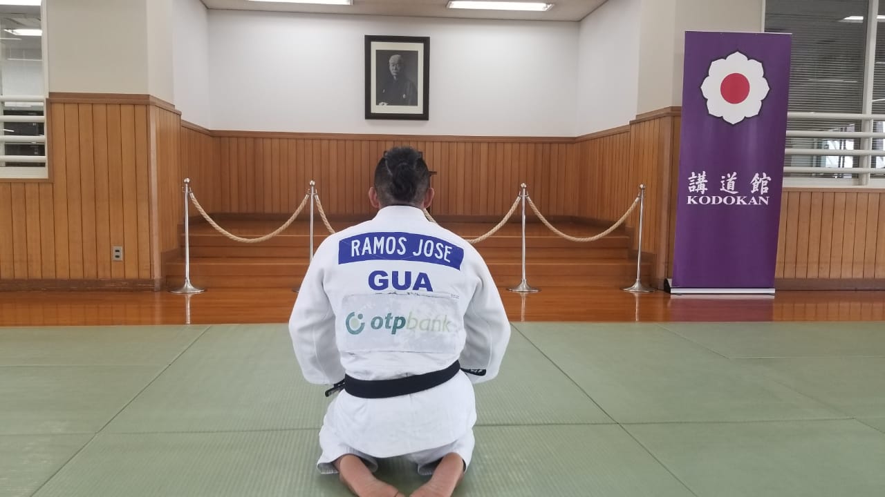
[[[691,497],[627,432],[614,425],[476,429],[473,464],[457,496]],[[317,433],[100,434],[38,497],[347,496],[319,475]],[[383,462],[379,477],[404,493],[425,478],[412,464]]]

